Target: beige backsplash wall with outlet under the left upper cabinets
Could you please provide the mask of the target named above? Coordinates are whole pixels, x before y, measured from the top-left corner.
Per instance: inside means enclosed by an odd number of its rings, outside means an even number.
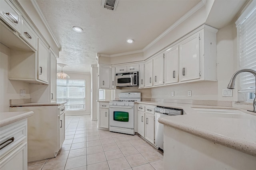
[[[10,111],[10,99],[30,98],[29,84],[8,79],[10,49],[0,43],[0,112]],[[26,90],[26,96],[20,97],[20,90]]]

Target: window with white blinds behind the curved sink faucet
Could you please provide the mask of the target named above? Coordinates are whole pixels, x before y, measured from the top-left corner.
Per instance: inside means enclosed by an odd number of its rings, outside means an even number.
[[[240,69],[256,70],[256,8],[245,11],[243,20],[238,23],[240,46]],[[252,102],[255,92],[255,76],[252,73],[240,73],[238,92],[244,93],[244,101]]]

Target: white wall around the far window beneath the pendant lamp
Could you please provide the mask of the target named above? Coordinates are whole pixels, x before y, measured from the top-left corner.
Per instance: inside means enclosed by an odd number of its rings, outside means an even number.
[[[85,79],[85,111],[66,111],[66,115],[90,115],[91,113],[91,75],[90,73],[66,72],[70,79]]]

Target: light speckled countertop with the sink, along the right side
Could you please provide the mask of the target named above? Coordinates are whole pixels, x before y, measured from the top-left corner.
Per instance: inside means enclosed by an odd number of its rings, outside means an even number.
[[[136,103],[183,109],[184,115],[162,117],[158,121],[166,126],[256,156],[256,115],[252,112],[227,106],[154,101]],[[230,112],[242,114],[200,113],[197,108],[228,109]]]

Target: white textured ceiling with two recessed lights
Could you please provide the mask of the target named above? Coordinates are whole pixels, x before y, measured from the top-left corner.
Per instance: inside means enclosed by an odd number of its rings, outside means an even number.
[[[62,47],[57,63],[68,64],[64,71],[90,72],[96,53],[142,50],[200,0],[119,0],[115,11],[102,8],[102,0],[36,2]],[[76,33],[73,26],[84,31]]]

